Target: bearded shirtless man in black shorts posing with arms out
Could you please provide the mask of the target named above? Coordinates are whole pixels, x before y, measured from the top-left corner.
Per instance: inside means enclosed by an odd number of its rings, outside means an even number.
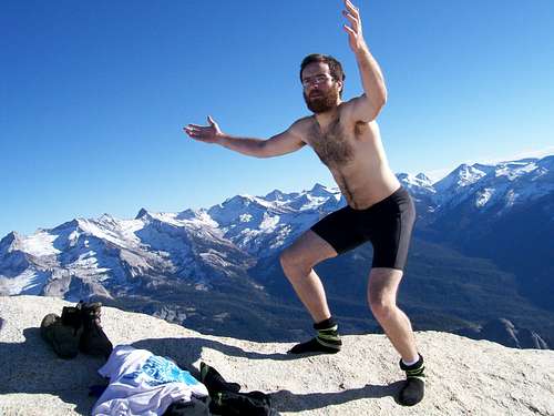
[[[371,312],[401,356],[407,373],[399,400],[414,405],[423,398],[423,358],[418,353],[410,321],[397,306],[397,291],[408,255],[414,221],[413,202],[390,170],[376,118],[387,101],[379,64],[362,35],[358,8],[345,0],[343,26],[361,75],[365,93],[342,101],[345,75],[329,55],[310,54],[300,65],[304,99],[314,115],[297,120],[267,140],[230,136],[208,116],[208,125],[188,124],[193,139],[217,143],[256,158],[290,153],[309,145],[325,163],[348,205],[305,232],[281,256],[283,270],[309,311],[317,336],[289,353],[337,353],[342,343],[324,286],[314,266],[370,241],[373,263],[369,274]]]

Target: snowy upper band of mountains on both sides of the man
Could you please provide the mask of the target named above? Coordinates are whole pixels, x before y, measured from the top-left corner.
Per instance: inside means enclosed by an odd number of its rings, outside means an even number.
[[[554,156],[548,156],[462,164],[434,184],[422,173],[398,177],[420,214],[432,221],[452,210],[501,215],[554,193],[553,166]],[[142,209],[133,220],[104,214],[30,236],[13,232],[0,242],[0,292],[110,296],[111,288],[132,291],[144,276],[173,276],[204,287],[274,255],[343,205],[337,187],[316,184],[288,194],[275,190],[265,196],[237,195],[197,211]]]

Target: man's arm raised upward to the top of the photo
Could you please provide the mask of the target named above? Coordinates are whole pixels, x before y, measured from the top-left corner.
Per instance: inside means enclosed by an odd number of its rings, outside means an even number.
[[[381,69],[363,39],[359,9],[350,0],[345,0],[345,8],[342,14],[350,26],[345,24],[343,28],[348,33],[350,49],[356,55],[363,91],[366,92],[351,101],[353,115],[359,121],[372,121],[387,102],[387,87],[384,85]]]

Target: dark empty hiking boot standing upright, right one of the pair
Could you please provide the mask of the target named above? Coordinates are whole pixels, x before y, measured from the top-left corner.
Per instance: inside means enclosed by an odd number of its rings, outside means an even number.
[[[79,349],[84,354],[103,356],[107,359],[112,354],[113,345],[100,323],[102,304],[81,301],[76,307],[81,311],[81,322],[83,323]]]

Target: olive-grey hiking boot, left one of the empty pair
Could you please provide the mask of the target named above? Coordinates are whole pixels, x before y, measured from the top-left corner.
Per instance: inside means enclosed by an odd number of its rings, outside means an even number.
[[[61,358],[74,358],[79,353],[79,339],[82,334],[79,326],[64,325],[57,314],[48,314],[40,324],[42,339],[52,345],[55,354]]]

